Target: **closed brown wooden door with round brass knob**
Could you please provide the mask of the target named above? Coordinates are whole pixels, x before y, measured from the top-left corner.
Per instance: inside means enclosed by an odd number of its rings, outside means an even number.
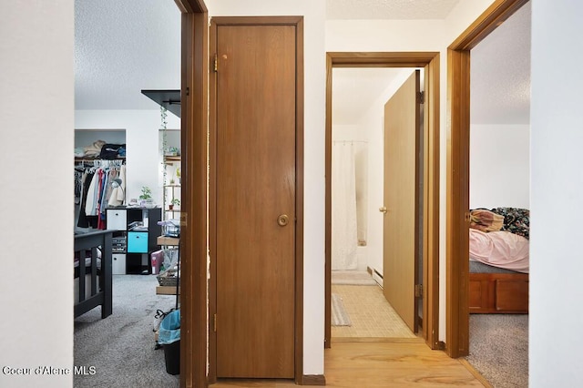
[[[293,378],[295,28],[216,34],[217,376]]]

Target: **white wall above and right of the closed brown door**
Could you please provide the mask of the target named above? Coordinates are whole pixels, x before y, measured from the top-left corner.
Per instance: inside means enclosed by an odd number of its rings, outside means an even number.
[[[325,2],[312,0],[213,0],[214,15],[303,15],[304,226],[303,373],[323,373]]]

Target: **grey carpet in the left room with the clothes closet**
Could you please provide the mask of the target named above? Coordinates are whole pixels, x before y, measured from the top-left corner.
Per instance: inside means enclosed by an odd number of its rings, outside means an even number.
[[[156,310],[175,307],[174,296],[157,295],[154,275],[114,275],[113,314],[101,319],[97,307],[75,320],[75,365],[95,374],[75,375],[82,387],[178,387],[166,373],[163,349],[155,348]]]

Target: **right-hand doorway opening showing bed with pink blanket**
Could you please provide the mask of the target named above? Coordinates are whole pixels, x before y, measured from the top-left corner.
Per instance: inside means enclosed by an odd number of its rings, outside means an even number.
[[[470,55],[470,314],[465,360],[494,386],[526,386],[530,3]],[[486,227],[486,218],[498,222]],[[496,287],[494,306],[476,291],[490,289],[486,277],[496,277],[496,284],[491,283],[492,289]],[[512,291],[506,296],[508,287]],[[502,362],[500,354],[512,362]]]

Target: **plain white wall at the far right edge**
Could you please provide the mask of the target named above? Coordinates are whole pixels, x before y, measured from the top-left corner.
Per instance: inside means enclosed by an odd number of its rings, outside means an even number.
[[[583,3],[532,2],[529,386],[581,385]]]

